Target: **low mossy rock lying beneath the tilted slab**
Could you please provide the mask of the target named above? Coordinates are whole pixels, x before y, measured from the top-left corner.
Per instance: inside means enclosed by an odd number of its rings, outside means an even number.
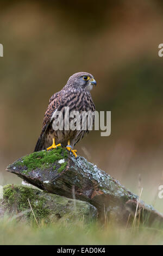
[[[0,214],[2,216],[7,212],[20,220],[34,220],[29,203],[38,223],[41,220],[48,223],[90,222],[97,217],[97,209],[87,202],[11,184],[3,187]]]

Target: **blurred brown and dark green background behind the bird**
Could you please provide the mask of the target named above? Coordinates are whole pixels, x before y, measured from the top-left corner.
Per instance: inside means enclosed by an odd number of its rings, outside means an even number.
[[[34,150],[49,97],[87,71],[111,135],[90,132],[78,154],[163,212],[163,2],[5,0],[0,31],[0,185],[21,184],[5,167]]]

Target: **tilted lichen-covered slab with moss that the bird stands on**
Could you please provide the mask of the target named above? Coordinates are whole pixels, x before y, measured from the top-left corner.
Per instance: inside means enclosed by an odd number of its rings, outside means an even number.
[[[136,217],[147,225],[163,223],[163,215],[153,206],[139,202],[139,197],[116,179],[84,157],[76,159],[65,149],[21,157],[7,171],[46,192],[89,202],[97,208],[99,218],[127,223]]]

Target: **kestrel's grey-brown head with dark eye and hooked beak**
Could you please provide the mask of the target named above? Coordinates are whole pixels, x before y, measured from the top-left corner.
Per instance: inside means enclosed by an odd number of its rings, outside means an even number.
[[[96,86],[93,76],[87,72],[78,72],[73,74],[67,81],[66,87],[73,87],[85,90],[92,90]]]

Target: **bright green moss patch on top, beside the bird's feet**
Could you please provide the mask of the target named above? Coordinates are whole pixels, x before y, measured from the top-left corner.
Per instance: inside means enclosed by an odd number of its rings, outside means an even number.
[[[36,168],[49,168],[52,166],[52,163],[60,159],[67,158],[67,150],[63,148],[53,149],[49,151],[39,151],[34,152],[30,155],[22,157],[22,159],[15,163],[15,166],[27,167],[27,170],[35,170]],[[23,170],[24,173],[27,170]]]

